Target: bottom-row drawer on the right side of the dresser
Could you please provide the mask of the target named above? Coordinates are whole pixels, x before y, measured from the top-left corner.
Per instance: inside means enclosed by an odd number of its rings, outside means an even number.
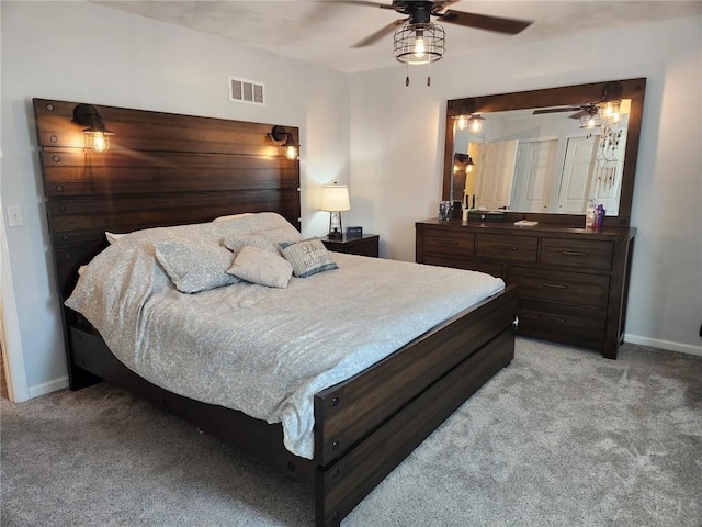
[[[607,334],[607,311],[520,299],[519,333],[539,338],[601,348]]]

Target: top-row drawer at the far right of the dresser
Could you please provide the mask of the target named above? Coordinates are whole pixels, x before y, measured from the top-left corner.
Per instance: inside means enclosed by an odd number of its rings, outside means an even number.
[[[548,266],[610,270],[612,242],[542,238],[540,262]]]

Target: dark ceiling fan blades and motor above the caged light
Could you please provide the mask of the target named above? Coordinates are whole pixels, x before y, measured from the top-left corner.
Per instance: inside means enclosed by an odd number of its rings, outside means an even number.
[[[456,3],[457,1],[458,0],[443,0],[438,2],[428,2],[393,0],[392,4],[363,0],[343,1],[343,3],[390,9],[393,11],[397,11],[400,14],[407,15],[406,19],[398,19],[394,22],[390,22],[385,27],[381,27],[378,31],[356,42],[351,47],[364,47],[374,44],[386,34],[392,33],[395,29],[405,24],[430,24],[432,16],[438,19],[440,22],[445,22],[449,24],[463,25],[464,27],[475,27],[486,31],[495,31],[509,35],[516,35],[533,23],[532,21],[506,19],[501,16],[489,16],[485,14],[467,13],[464,11],[454,11],[448,9],[451,4]]]

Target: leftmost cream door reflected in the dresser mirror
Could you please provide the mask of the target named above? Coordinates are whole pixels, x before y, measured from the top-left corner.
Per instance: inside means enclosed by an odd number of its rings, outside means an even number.
[[[476,206],[487,210],[509,208],[517,144],[517,141],[503,141],[482,145]]]

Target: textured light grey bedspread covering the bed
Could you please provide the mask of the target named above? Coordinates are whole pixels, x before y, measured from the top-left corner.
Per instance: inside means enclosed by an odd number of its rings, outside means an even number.
[[[316,392],[505,284],[473,271],[332,254],[339,269],[293,278],[287,289],[239,282],[184,294],[154,256],[162,239],[222,244],[233,233],[265,237],[271,229],[280,236],[279,217],[134,233],[95,257],[66,304],[143,378],[282,422],[286,448],[312,459]]]

